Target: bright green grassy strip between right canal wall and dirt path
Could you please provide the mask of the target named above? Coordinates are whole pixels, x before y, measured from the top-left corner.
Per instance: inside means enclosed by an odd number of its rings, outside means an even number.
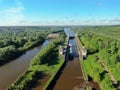
[[[115,90],[107,73],[95,59],[94,55],[89,55],[86,60],[81,61],[86,77],[89,75],[99,83],[101,90]]]

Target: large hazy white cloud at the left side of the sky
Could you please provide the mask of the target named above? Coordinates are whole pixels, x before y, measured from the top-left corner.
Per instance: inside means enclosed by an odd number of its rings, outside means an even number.
[[[20,20],[24,19],[24,6],[20,1],[15,3],[17,6],[7,7],[0,11],[0,25],[18,25]]]

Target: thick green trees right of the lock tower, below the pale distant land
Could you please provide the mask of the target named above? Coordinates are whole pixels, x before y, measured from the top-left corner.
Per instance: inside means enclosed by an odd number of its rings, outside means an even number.
[[[81,33],[79,38],[87,47],[88,53],[96,53],[103,49],[109,49],[111,52],[116,52],[115,50],[119,49],[120,42],[118,40],[91,32]]]

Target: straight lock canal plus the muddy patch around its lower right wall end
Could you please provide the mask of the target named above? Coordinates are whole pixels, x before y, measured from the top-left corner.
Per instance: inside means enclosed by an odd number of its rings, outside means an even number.
[[[69,45],[72,46],[73,59],[66,61],[66,66],[61,71],[60,76],[55,80],[51,90],[87,90],[88,86],[92,90],[100,90],[99,85],[94,81],[86,81],[83,76],[80,60],[78,58],[75,33],[69,29],[65,29],[65,33],[69,35]]]

